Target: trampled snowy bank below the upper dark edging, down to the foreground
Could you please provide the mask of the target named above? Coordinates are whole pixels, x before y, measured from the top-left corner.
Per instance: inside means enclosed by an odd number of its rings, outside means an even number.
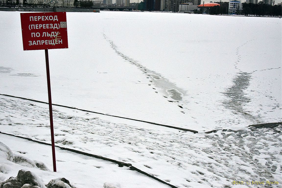
[[[0,102],[2,132],[50,143],[47,104],[10,97],[1,97]],[[114,123],[100,119],[94,113],[54,108],[54,128],[56,145],[131,163],[177,187],[238,187],[232,184],[233,181],[244,181],[245,185],[241,187],[247,187],[247,181],[277,181],[278,185],[270,187],[281,187],[281,124],[272,128],[193,134],[167,128],[162,130],[144,128],[138,124]],[[2,134],[0,141],[14,152],[44,161],[51,169],[50,146]],[[76,183],[78,188],[89,188],[88,185],[98,188],[105,182],[117,182],[121,188],[166,187],[153,186],[147,182],[149,178],[144,179],[146,184],[139,179],[130,180],[130,184],[123,176],[139,178],[141,174],[78,154],[57,152],[59,174],[72,180],[71,183]],[[36,172],[39,173],[38,170]],[[45,173],[40,171],[39,175],[46,181]],[[48,173],[58,178],[58,174]],[[4,179],[8,176],[2,174]]]

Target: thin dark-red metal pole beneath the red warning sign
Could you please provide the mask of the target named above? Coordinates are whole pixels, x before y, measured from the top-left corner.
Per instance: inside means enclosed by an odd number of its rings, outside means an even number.
[[[54,142],[54,127],[53,127],[53,113],[52,113],[52,99],[51,99],[51,86],[50,86],[50,71],[49,71],[49,56],[48,49],[45,50],[46,59],[46,73],[47,73],[47,86],[48,86],[48,99],[49,99],[49,114],[50,114],[50,128],[51,128],[51,143],[52,143],[52,156],[53,156],[53,169],[56,169],[56,155],[55,155],[55,142]]]

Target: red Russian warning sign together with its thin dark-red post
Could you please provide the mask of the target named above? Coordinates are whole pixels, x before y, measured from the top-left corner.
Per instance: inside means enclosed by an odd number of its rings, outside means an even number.
[[[21,29],[23,35],[23,50],[45,50],[53,170],[56,172],[57,169],[48,49],[68,48],[66,13],[21,13]]]

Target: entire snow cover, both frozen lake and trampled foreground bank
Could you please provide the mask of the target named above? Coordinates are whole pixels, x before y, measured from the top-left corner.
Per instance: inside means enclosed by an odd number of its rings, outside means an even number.
[[[23,51],[19,12],[0,16],[0,94],[48,102],[44,51]],[[245,128],[281,122],[281,26],[279,18],[67,12],[69,49],[49,50],[54,104],[200,133],[53,106],[56,145],[181,188],[281,187],[281,124]],[[48,105],[0,95],[0,131],[50,143]],[[49,146],[3,134],[0,142],[29,161],[1,154],[0,182],[25,169],[44,185],[64,177],[77,188],[168,187],[59,149],[58,172],[41,170],[34,161],[51,169]]]

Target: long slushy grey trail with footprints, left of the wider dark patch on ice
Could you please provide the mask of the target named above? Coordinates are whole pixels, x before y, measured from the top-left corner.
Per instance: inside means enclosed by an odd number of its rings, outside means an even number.
[[[163,90],[164,93],[164,97],[168,98],[170,97],[173,100],[168,100],[169,102],[177,102],[179,103],[179,101],[182,101],[182,97],[183,95],[186,94],[186,91],[177,87],[175,84],[173,84],[172,82],[170,82],[168,79],[164,78],[161,74],[149,70],[147,69],[145,66],[141,65],[138,61],[129,58],[128,56],[124,55],[123,53],[121,53],[120,51],[118,51],[118,47],[114,44],[113,41],[107,39],[107,36],[103,34],[103,37],[106,41],[108,41],[110,43],[111,48],[120,56],[122,57],[124,60],[126,60],[127,62],[129,62],[130,64],[135,65],[139,70],[141,70],[144,74],[146,74],[147,78],[150,78],[151,80],[149,80],[149,82],[152,82],[152,84]],[[151,86],[152,84],[148,84],[149,86]],[[153,88],[155,89],[155,88]],[[155,93],[158,93],[157,91],[155,91]],[[178,104],[178,106],[180,108],[182,107],[183,104]],[[181,111],[182,113],[185,113],[183,111]]]

